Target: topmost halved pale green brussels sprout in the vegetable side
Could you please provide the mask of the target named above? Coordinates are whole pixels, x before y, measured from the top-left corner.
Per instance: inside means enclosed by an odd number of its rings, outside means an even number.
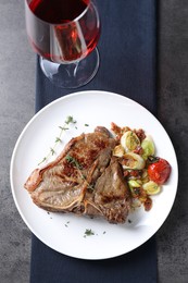
[[[128,152],[140,146],[140,140],[133,131],[127,131],[121,137],[121,145],[124,147],[125,151]]]

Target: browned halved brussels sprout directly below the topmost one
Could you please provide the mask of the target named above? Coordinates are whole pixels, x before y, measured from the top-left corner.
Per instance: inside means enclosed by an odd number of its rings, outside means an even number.
[[[143,160],[143,158],[137,153],[128,152],[123,156],[123,169],[142,170],[145,168],[145,164],[146,161]]]

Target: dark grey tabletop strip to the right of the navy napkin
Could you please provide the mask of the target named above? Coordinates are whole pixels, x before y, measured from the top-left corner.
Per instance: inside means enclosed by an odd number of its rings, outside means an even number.
[[[158,233],[160,282],[188,282],[188,2],[159,1],[159,118],[179,163],[173,210]]]

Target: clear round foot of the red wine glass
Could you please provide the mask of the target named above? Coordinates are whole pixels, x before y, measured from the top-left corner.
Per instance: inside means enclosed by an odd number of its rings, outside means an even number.
[[[62,88],[77,88],[88,84],[99,69],[99,52],[96,48],[88,57],[79,62],[59,64],[40,57],[43,74],[55,86]]]

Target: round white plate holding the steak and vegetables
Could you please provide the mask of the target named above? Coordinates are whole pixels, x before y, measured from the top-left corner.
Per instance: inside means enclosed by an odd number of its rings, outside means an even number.
[[[73,115],[72,126],[55,148],[59,153],[71,137],[92,132],[97,125],[143,128],[151,134],[156,155],[168,160],[172,174],[163,192],[153,197],[151,211],[138,209],[129,216],[131,223],[110,224],[63,213],[48,213],[35,206],[24,183],[38,162],[53,147],[66,116]],[[89,126],[86,126],[88,124]],[[55,156],[53,157],[55,158]],[[105,91],[82,91],[62,97],[41,109],[25,126],[15,145],[11,160],[11,186],[15,205],[30,231],[46,245],[64,255],[83,259],[104,259],[126,254],[147,242],[167,218],[177,190],[176,155],[160,122],[143,107],[123,96]],[[84,237],[86,229],[95,235]]]

